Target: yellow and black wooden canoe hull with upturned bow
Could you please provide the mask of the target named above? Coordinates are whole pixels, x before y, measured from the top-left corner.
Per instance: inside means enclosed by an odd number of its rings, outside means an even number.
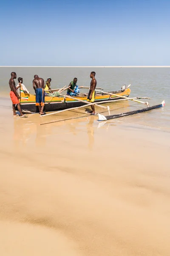
[[[120,91],[114,91],[111,92],[114,94],[118,94],[120,96],[126,96],[128,97],[130,95],[130,84],[125,88],[125,90]],[[77,99],[81,99],[83,101],[87,101],[87,95],[84,93],[79,93],[78,96],[74,96]],[[96,93],[95,102],[102,102],[102,101],[111,101],[121,99],[119,96],[112,96],[109,93],[103,94],[103,93]],[[23,88],[21,87],[20,90],[20,105],[22,111],[30,111],[30,112],[39,112],[38,107],[35,105],[35,95],[24,93]],[[86,105],[83,102],[79,102],[75,99],[68,99],[63,96],[45,96],[45,107],[44,111],[59,111],[64,110],[67,108],[74,108],[74,107],[80,107],[82,105]]]

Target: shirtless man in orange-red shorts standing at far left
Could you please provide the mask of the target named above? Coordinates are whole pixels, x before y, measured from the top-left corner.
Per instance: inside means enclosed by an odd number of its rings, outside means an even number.
[[[14,116],[18,116],[16,114],[16,108],[15,108],[15,105],[17,105],[17,109],[20,112],[20,117],[28,117],[26,115],[23,115],[23,113],[21,111],[21,106],[20,106],[20,102],[19,102],[20,96],[17,93],[17,89],[16,89],[15,81],[14,81],[14,79],[16,79],[16,78],[17,78],[16,73],[12,72],[11,73],[11,79],[9,80],[9,87],[11,89],[10,97],[11,97],[11,101],[12,101],[13,113],[14,113]]]

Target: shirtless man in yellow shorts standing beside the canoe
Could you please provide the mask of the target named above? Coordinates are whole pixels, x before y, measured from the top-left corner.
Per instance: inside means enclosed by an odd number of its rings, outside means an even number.
[[[95,79],[95,75],[96,75],[96,72],[92,71],[91,74],[90,74],[90,78],[91,78],[91,87],[90,87],[90,90],[89,90],[89,93],[88,93],[88,98],[87,98],[87,102],[91,102],[93,103],[94,100],[95,100],[95,88],[96,88],[96,84],[97,84],[97,81]],[[91,115],[95,115],[95,108],[94,108],[94,105],[91,105],[91,111],[88,112],[88,113],[91,113]]]

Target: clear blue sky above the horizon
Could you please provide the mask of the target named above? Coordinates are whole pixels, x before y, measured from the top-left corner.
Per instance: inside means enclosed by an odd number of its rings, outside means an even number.
[[[6,0],[0,65],[170,65],[169,0]]]

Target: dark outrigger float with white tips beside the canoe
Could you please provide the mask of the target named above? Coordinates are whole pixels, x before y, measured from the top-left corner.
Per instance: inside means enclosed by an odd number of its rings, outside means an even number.
[[[98,121],[110,120],[110,119],[119,118],[119,117],[122,117],[122,116],[130,116],[130,115],[134,115],[134,114],[137,114],[137,113],[150,111],[152,109],[162,108],[162,107],[164,107],[164,105],[165,105],[165,102],[163,101],[159,105],[155,105],[155,106],[148,107],[148,108],[141,108],[141,109],[137,109],[135,111],[129,111],[129,112],[126,112],[126,113],[119,113],[119,114],[110,115],[110,116],[103,116],[101,114],[98,114],[98,116],[99,116]]]

